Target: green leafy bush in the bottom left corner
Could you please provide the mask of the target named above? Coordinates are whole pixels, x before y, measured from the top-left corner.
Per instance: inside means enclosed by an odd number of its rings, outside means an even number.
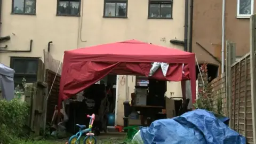
[[[28,109],[26,102],[17,99],[0,100],[0,143],[12,143],[23,134]]]

